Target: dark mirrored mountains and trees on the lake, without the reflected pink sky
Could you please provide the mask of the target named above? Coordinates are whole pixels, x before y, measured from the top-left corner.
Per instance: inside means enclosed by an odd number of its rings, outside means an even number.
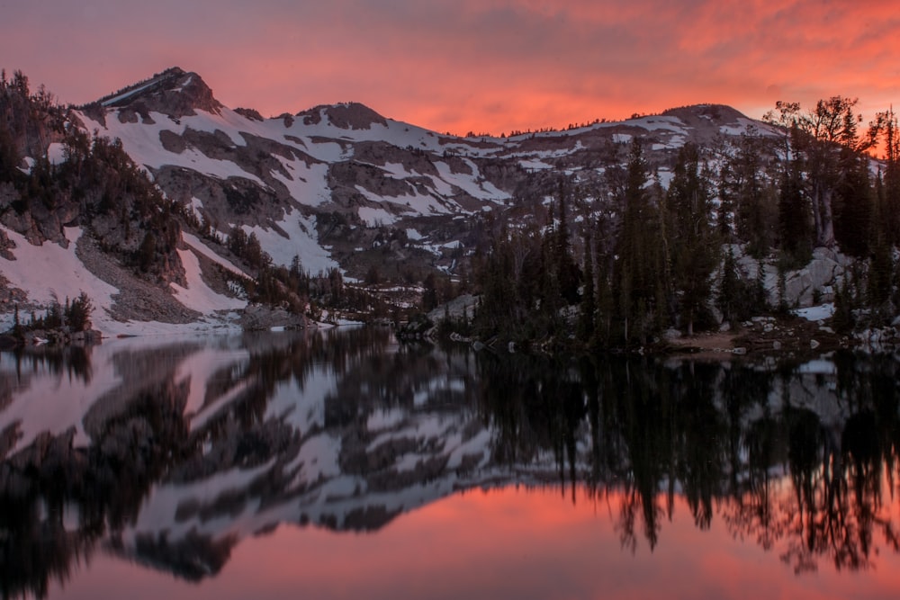
[[[0,354],[0,586],[47,596],[98,551],[201,581],[279,524],[380,532],[522,484],[610,506],[626,552],[678,509],[792,572],[869,569],[898,551],[898,364],[554,362],[377,328]]]

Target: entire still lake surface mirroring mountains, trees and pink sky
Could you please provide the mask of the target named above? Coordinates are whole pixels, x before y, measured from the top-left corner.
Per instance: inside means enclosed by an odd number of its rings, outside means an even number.
[[[358,328],[0,354],[0,590],[900,597],[900,362]]]

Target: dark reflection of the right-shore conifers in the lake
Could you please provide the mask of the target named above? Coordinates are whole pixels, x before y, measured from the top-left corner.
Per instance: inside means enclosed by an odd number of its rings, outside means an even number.
[[[898,363],[841,354],[834,365],[826,376],[648,358],[578,369],[479,360],[495,459],[533,461],[552,448],[563,488],[568,479],[592,494],[623,492],[624,547],[634,551],[643,533],[653,549],[679,495],[699,528],[718,514],[797,572],[820,559],[866,569],[877,543],[900,548],[886,505],[897,475]],[[577,441],[587,445],[580,455]]]

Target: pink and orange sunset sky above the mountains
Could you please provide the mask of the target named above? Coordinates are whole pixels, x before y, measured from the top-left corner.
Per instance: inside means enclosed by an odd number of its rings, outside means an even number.
[[[456,134],[692,103],[900,104],[892,0],[0,0],[0,67],[86,103],[167,67],[264,116],[360,102]]]

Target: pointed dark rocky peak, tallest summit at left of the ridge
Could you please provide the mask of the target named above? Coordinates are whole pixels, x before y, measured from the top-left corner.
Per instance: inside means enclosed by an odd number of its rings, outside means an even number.
[[[96,104],[105,109],[130,109],[140,114],[162,112],[175,118],[196,114],[197,110],[218,113],[223,107],[201,76],[180,67],[167,68],[104,96]]]

